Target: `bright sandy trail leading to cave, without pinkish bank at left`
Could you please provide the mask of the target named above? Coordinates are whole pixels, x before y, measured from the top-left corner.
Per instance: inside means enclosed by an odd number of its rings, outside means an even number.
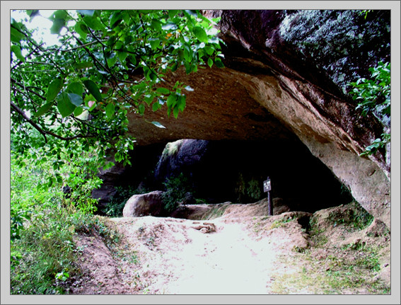
[[[216,231],[204,234],[194,229],[195,221],[185,219],[141,217],[118,222],[125,222],[119,227],[136,245],[140,263],[132,270],[145,281],[146,293],[269,293],[277,245],[267,237],[250,236],[243,224],[207,221],[215,224]]]

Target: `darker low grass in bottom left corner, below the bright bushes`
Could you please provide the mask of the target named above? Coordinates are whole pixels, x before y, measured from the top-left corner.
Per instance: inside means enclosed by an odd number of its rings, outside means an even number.
[[[81,275],[74,235],[96,231],[107,243],[117,236],[97,217],[74,209],[38,208],[25,226],[11,244],[11,294],[69,292],[71,281]]]

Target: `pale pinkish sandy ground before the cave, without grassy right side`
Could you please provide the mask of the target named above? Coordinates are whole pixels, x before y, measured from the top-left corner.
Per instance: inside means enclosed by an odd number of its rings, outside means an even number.
[[[81,264],[87,272],[71,293],[277,293],[273,289],[277,278],[299,274],[308,263],[289,263],[300,259],[294,249],[310,248],[308,234],[297,221],[282,222],[285,215],[237,216],[234,211],[208,221],[105,218],[107,226],[120,232],[120,243],[110,251],[100,236],[79,238]],[[277,221],[281,225],[274,226]],[[316,287],[288,288],[291,294],[316,292]],[[354,292],[366,290],[349,291]]]

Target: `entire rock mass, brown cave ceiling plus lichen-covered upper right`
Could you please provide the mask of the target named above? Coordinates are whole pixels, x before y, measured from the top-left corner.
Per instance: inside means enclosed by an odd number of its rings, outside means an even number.
[[[132,113],[140,145],[176,139],[273,141],[301,139],[347,185],[368,212],[390,226],[390,163],[386,151],[359,154],[380,137],[383,123],[361,117],[344,84],[368,77],[389,60],[390,12],[208,11],[221,16],[225,69],[178,70],[166,77],[195,88],[187,108],[168,118]]]

